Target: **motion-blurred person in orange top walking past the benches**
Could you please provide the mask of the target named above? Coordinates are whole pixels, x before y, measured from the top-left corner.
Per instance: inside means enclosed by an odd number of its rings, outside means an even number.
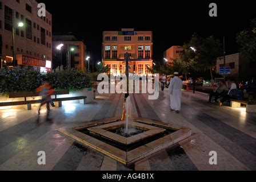
[[[46,107],[47,107],[46,121],[51,121],[50,104],[54,106],[53,100],[51,99],[51,94],[54,93],[53,86],[50,85],[49,80],[44,80],[43,85],[39,86],[36,91],[37,93],[39,93],[40,96],[42,96],[41,105],[39,106],[39,109],[38,109],[38,118],[40,115],[41,107],[46,104]]]

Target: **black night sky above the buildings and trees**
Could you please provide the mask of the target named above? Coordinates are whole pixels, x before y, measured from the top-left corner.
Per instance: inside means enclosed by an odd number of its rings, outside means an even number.
[[[102,31],[135,28],[153,31],[153,59],[183,45],[191,35],[226,38],[226,52],[238,52],[235,35],[256,18],[254,1],[90,1],[40,0],[53,15],[53,32],[73,32],[83,39],[94,63],[101,60]],[[209,4],[217,3],[218,17],[209,16]]]

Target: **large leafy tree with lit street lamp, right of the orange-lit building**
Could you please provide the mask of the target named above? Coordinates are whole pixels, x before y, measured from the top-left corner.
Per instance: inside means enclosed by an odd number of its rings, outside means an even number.
[[[193,35],[189,43],[184,46],[183,60],[189,65],[192,71],[210,70],[213,80],[212,69],[216,65],[218,57],[222,56],[222,48],[219,40],[214,36],[201,38]]]

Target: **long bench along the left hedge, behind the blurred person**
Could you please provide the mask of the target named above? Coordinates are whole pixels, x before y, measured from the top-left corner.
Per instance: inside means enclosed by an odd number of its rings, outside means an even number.
[[[81,104],[86,104],[86,96],[79,97],[66,97],[66,98],[57,98],[57,95],[69,94],[69,90],[55,90],[52,95],[54,102],[57,102],[57,106],[62,106],[62,101],[71,101],[71,100],[80,100]],[[0,107],[2,106],[18,106],[18,105],[27,105],[26,109],[31,110],[31,104],[40,104],[42,100],[27,100],[27,97],[37,97],[38,93],[34,92],[21,92],[21,93],[10,93],[9,98],[24,98],[24,101],[13,101],[13,102],[0,102]]]

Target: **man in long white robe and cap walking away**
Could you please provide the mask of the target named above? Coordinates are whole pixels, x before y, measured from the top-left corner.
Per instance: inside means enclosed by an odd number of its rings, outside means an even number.
[[[170,107],[171,111],[175,110],[179,113],[181,110],[181,96],[182,96],[182,80],[179,78],[179,73],[174,72],[174,78],[170,81],[169,93],[170,93]]]

